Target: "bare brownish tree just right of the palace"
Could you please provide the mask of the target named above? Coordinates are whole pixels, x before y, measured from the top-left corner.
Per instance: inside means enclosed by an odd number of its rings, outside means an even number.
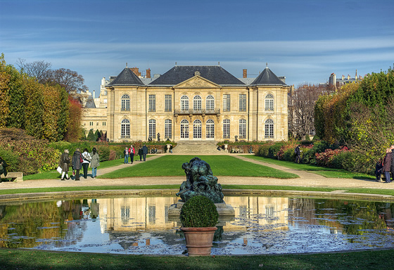
[[[294,138],[304,139],[314,130],[314,104],[331,89],[313,84],[300,84],[288,98],[288,131]]]

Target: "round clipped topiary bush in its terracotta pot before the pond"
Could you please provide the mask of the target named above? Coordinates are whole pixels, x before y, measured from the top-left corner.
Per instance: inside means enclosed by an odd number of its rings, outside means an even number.
[[[197,195],[181,209],[181,230],[184,232],[189,256],[209,256],[219,214],[212,200]]]

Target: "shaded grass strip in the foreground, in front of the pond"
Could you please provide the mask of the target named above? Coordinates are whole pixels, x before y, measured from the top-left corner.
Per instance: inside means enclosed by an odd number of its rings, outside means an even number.
[[[309,255],[143,256],[0,249],[0,269],[393,269],[393,250]]]

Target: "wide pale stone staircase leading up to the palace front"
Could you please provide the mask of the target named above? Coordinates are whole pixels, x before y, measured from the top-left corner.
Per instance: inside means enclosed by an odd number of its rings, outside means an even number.
[[[174,154],[182,155],[220,155],[224,151],[217,150],[217,141],[178,141],[177,146],[172,149]]]

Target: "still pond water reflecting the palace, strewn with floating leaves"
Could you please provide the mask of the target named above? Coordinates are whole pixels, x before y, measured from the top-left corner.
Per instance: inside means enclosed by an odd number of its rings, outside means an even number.
[[[0,205],[0,247],[131,255],[181,255],[175,197],[89,198]],[[394,247],[394,205],[311,198],[225,197],[212,255]]]

